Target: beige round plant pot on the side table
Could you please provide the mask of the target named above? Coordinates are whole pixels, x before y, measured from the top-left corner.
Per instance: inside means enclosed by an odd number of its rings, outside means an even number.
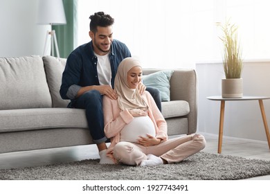
[[[222,79],[222,98],[242,98],[243,79]]]

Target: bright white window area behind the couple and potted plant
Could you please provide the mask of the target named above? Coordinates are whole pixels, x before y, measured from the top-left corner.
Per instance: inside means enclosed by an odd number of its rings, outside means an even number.
[[[121,5],[121,6],[119,6]],[[89,42],[89,15],[115,19],[114,38],[125,42],[147,68],[195,68],[201,60],[222,60],[221,29],[239,26],[243,57],[270,58],[269,0],[78,1],[78,44]]]

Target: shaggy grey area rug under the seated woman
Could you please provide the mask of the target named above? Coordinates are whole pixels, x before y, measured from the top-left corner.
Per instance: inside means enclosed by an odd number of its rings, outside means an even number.
[[[100,165],[98,159],[0,170],[1,180],[233,180],[270,175],[270,161],[198,152],[178,164]]]

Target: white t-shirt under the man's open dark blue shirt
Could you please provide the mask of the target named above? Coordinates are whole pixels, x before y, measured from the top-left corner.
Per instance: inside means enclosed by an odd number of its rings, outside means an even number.
[[[109,53],[106,55],[95,55],[98,58],[98,80],[100,85],[111,85],[111,63],[109,62]]]

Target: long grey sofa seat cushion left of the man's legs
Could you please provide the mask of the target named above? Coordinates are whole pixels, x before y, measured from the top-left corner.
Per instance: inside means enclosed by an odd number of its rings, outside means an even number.
[[[86,128],[84,109],[37,108],[0,111],[0,132],[53,128]]]

